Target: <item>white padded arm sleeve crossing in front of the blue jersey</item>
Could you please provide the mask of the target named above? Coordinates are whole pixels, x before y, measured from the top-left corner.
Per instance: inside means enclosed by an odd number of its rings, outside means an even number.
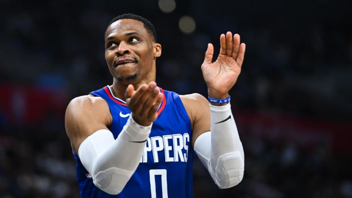
[[[82,142],[78,156],[94,185],[112,195],[122,191],[141,160],[152,125],[140,126],[130,115],[116,139],[109,130],[98,130]]]

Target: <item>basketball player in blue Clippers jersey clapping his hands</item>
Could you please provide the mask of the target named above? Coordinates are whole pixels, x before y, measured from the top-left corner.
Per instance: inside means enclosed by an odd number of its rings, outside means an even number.
[[[112,85],[72,99],[65,115],[82,198],[192,198],[196,154],[219,188],[242,180],[244,154],[229,90],[245,44],[227,32],[220,46],[212,63],[208,44],[201,66],[209,98],[178,95],[156,86],[161,45],[152,23],[134,14],[110,22],[105,59]]]

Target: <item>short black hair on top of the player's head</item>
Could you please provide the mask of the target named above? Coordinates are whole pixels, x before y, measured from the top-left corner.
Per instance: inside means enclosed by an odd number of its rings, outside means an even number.
[[[116,21],[118,21],[120,19],[134,19],[134,20],[142,22],[143,25],[144,25],[144,28],[147,30],[147,32],[151,36],[152,40],[156,43],[155,28],[154,28],[154,25],[150,21],[148,21],[147,19],[145,19],[145,18],[143,18],[141,16],[138,16],[138,15],[135,15],[135,14],[132,14],[132,13],[125,13],[125,14],[122,14],[122,15],[114,17],[110,21],[108,27],[111,25],[111,23],[116,22]],[[106,34],[106,32],[107,31],[105,31],[105,34]]]

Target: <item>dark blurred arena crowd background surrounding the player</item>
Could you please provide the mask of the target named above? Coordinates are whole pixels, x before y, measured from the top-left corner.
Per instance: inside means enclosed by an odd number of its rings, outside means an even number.
[[[110,20],[155,26],[158,86],[207,96],[200,65],[221,33],[246,43],[232,109],[242,182],[216,187],[198,159],[195,198],[352,198],[349,0],[0,0],[0,197],[78,198],[68,102],[112,83]],[[216,56],[214,57],[216,58]]]

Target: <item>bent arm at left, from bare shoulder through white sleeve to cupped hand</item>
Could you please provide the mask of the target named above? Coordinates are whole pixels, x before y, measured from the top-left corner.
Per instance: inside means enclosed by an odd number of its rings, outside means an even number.
[[[155,89],[151,85],[131,90],[128,105],[132,113],[116,139],[108,129],[112,117],[102,98],[79,97],[67,107],[65,126],[72,149],[92,176],[94,185],[109,194],[119,194],[139,164],[162,100]],[[154,118],[149,125],[142,126],[133,117]]]

